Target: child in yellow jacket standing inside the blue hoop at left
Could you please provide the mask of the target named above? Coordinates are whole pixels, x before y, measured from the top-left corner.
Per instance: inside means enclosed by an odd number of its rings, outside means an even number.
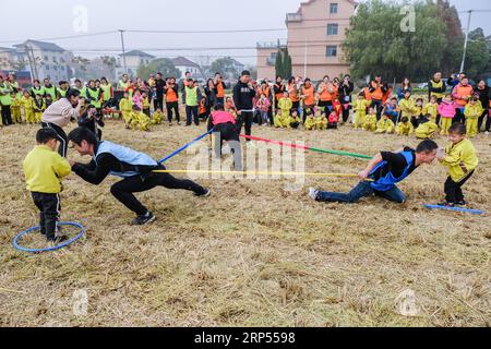
[[[58,134],[52,129],[40,129],[36,134],[36,147],[23,163],[27,190],[39,209],[40,233],[49,242],[61,242],[57,237],[60,215],[61,179],[71,173],[70,163],[57,153]]]

